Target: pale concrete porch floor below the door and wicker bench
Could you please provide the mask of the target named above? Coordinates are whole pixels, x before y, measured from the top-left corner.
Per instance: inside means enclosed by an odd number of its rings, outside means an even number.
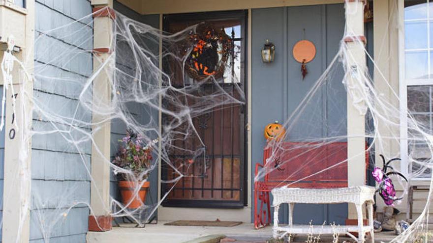
[[[250,223],[243,223],[234,227],[203,227],[203,226],[168,226],[166,222],[147,224],[145,228],[113,227],[107,232],[89,232],[87,243],[184,243],[207,235],[223,234],[239,242],[263,243],[272,237],[272,226],[254,229]],[[125,226],[129,226],[127,224]],[[132,225],[131,225],[132,226]],[[375,242],[389,242],[394,232],[375,233]],[[321,242],[332,242],[332,236],[321,236]],[[295,243],[305,243],[307,237],[295,238]],[[350,238],[340,237],[339,242],[350,242]]]

